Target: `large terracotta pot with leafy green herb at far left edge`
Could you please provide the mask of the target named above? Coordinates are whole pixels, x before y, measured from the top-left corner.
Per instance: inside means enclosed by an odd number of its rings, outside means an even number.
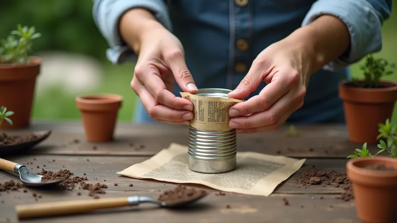
[[[0,104],[15,111],[13,125],[2,128],[25,128],[30,124],[36,78],[42,59],[29,56],[32,40],[41,36],[35,27],[17,26],[0,43]]]

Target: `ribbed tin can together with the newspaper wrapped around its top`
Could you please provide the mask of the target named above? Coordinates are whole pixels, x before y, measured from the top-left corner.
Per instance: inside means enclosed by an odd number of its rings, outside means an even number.
[[[228,98],[229,89],[199,89],[181,92],[192,101],[194,118],[189,126],[189,169],[219,174],[236,169],[236,131],[229,127],[230,106],[242,102]]]

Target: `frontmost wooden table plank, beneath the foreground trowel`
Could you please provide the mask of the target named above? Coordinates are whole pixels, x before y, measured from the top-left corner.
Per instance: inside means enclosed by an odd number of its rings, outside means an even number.
[[[35,201],[29,193],[4,194],[0,199],[0,222],[17,222],[15,205],[43,202],[56,202],[66,200],[79,200],[88,198],[85,195],[77,196],[75,192],[64,191],[59,194],[44,194]],[[150,196],[157,197],[155,191],[110,191],[102,198],[125,196]],[[15,197],[16,196],[16,197]],[[285,205],[286,198],[289,205]],[[88,198],[92,199],[92,198]],[[230,208],[228,208],[228,206]],[[2,221],[1,221],[2,220]],[[210,193],[197,204],[179,210],[160,209],[151,204],[142,204],[137,207],[120,208],[114,210],[95,211],[91,213],[76,214],[24,220],[25,223],[109,223],[109,222],[142,222],[142,223],[359,223],[355,214],[353,201],[343,202],[334,199],[332,195],[311,194],[274,194],[269,197],[247,196],[228,193],[217,196]]]

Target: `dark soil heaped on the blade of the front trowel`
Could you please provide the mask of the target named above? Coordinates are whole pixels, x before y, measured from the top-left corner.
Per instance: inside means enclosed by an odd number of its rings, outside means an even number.
[[[174,189],[162,192],[157,200],[165,202],[168,205],[192,201],[204,195],[206,195],[205,190],[189,188],[178,184]]]

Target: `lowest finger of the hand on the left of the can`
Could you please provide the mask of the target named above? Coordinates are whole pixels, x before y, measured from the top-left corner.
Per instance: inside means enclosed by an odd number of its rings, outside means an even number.
[[[176,110],[165,105],[158,104],[154,97],[147,89],[140,89],[139,97],[143,106],[146,108],[147,114],[154,119],[169,120],[180,122],[193,119],[193,112]]]

